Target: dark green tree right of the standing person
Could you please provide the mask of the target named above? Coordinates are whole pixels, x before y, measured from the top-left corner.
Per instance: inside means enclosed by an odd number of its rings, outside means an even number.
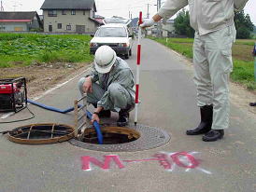
[[[249,38],[253,32],[254,25],[250,21],[249,14],[245,15],[244,10],[235,11],[235,29],[237,38]]]

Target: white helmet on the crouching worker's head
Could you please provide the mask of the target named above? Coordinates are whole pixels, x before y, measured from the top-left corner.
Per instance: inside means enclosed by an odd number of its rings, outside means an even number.
[[[107,74],[117,60],[116,52],[109,46],[101,46],[95,52],[95,69],[100,74]]]

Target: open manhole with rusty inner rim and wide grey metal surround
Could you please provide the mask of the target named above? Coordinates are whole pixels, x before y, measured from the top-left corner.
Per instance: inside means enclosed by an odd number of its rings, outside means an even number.
[[[102,131],[104,144],[97,144],[97,137],[92,129],[86,130],[84,141],[72,139],[69,143],[95,151],[125,152],[156,148],[170,140],[170,136],[164,130],[140,124],[129,125],[127,128],[106,126]]]

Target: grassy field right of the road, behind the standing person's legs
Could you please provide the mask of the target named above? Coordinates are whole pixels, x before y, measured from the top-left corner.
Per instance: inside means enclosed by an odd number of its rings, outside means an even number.
[[[172,48],[192,59],[192,38],[156,38],[150,37],[168,48]],[[247,89],[256,90],[254,81],[254,58],[251,55],[255,40],[236,40],[233,47],[234,70],[231,78]]]

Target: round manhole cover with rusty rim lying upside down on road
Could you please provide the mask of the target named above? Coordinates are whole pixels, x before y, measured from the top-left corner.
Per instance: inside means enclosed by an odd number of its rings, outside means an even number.
[[[8,139],[18,144],[54,144],[73,138],[75,130],[64,124],[32,124],[8,131]]]

